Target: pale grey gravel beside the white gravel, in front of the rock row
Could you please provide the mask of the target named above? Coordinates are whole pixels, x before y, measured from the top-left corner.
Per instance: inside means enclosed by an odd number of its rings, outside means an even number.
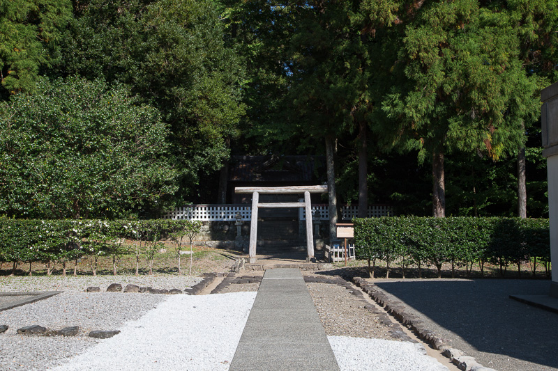
[[[45,370],[68,357],[82,354],[102,340],[86,337],[92,330],[116,330],[139,319],[169,299],[162,294],[121,292],[62,292],[54,297],[0,312],[0,324],[8,331],[0,334],[1,370]],[[59,330],[80,326],[76,337],[20,336],[17,329],[38,324]]]

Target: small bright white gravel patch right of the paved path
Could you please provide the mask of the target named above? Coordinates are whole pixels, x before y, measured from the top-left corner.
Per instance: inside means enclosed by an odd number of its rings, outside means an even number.
[[[447,371],[420,344],[328,336],[341,371]]]

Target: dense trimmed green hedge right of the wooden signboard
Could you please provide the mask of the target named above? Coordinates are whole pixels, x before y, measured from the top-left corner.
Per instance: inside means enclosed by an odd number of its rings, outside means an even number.
[[[465,267],[470,275],[474,263],[484,274],[485,262],[497,265],[502,276],[509,265],[531,262],[535,274],[539,264],[550,270],[550,237],[548,219],[519,218],[428,218],[418,216],[353,219],[355,253],[359,260],[386,262],[387,275],[394,264],[405,271],[411,267],[433,265],[438,277],[442,265]]]

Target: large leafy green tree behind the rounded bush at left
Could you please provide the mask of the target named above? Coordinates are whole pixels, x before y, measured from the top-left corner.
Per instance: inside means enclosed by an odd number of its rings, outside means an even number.
[[[177,198],[195,194],[198,175],[229,156],[243,114],[243,68],[224,47],[211,1],[91,0],[75,9],[61,63],[51,74],[80,74],[130,86],[171,129]]]

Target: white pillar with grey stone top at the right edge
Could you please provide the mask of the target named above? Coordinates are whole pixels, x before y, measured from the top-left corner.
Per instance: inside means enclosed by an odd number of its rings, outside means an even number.
[[[550,258],[558,267],[558,83],[541,91],[541,129],[543,156],[548,173],[548,218],[550,222]],[[552,269],[550,296],[558,297],[558,269]]]

